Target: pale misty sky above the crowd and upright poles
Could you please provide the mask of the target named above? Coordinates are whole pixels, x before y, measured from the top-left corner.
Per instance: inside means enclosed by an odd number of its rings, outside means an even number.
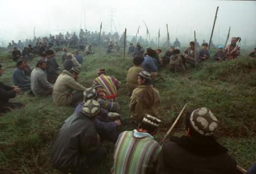
[[[10,40],[24,40],[35,35],[44,36],[79,31],[86,27],[99,31],[111,31],[111,9],[118,32],[127,28],[127,35],[145,37],[147,23],[151,38],[157,37],[160,28],[162,40],[166,38],[166,23],[171,42],[175,37],[189,41],[197,32],[198,41],[209,41],[216,7],[219,6],[213,40],[223,42],[231,26],[231,37],[242,37],[249,44],[256,44],[256,2],[255,1],[207,1],[207,0],[0,0],[0,45]],[[85,14],[85,18],[84,18]],[[115,32],[115,27],[112,26]],[[220,37],[220,38],[219,38]]]

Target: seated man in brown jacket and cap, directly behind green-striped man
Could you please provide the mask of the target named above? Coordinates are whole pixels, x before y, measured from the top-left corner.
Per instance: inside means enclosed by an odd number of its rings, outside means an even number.
[[[145,113],[156,116],[159,103],[159,91],[151,85],[150,74],[147,71],[141,71],[138,76],[138,86],[130,97],[129,108],[132,112],[130,118],[135,124],[138,124],[142,121]]]

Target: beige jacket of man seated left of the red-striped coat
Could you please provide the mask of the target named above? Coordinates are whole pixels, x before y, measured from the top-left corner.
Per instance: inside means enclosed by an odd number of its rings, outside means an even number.
[[[57,106],[69,105],[72,101],[72,92],[85,91],[85,87],[80,85],[73,77],[73,74],[64,70],[59,74],[53,86],[52,98]]]

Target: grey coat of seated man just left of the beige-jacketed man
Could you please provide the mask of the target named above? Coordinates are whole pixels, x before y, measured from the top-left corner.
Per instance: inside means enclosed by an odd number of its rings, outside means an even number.
[[[31,89],[36,96],[49,95],[53,89],[41,68],[34,68],[31,73]]]

